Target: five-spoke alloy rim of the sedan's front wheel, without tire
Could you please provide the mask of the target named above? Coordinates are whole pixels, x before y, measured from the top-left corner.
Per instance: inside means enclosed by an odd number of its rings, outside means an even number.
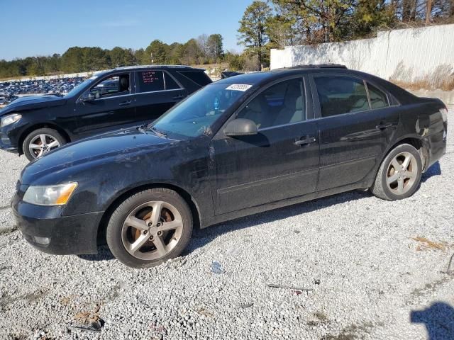
[[[182,216],[170,203],[143,203],[128,214],[121,228],[121,240],[131,256],[156,260],[167,255],[182,237]]]

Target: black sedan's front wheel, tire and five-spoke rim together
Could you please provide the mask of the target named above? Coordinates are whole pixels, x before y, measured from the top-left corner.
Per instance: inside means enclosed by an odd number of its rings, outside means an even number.
[[[191,239],[192,214],[175,191],[154,188],[127,198],[111,215],[109,249],[134,268],[156,266],[182,253]]]

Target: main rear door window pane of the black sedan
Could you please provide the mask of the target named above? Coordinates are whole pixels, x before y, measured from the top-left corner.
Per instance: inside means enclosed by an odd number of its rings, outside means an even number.
[[[321,116],[369,110],[364,81],[354,77],[316,77]]]

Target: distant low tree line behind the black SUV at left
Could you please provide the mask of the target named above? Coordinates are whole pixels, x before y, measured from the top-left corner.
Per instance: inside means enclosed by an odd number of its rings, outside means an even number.
[[[210,64],[223,62],[225,57],[222,35],[203,34],[184,44],[167,45],[153,40],[148,47],[139,50],[70,47],[62,55],[26,57],[9,62],[0,60],[0,78],[92,72],[137,64]]]

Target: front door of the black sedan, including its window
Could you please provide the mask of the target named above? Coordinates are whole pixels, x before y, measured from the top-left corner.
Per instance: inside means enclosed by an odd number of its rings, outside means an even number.
[[[258,135],[227,137],[211,144],[216,215],[314,193],[319,143],[302,77],[263,90],[233,118],[258,125]]]

